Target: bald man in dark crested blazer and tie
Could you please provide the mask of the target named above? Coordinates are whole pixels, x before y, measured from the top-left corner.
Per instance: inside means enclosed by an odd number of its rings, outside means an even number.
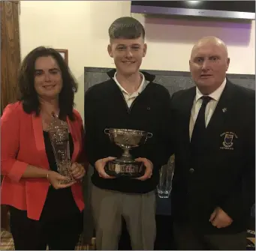
[[[255,93],[227,79],[229,63],[224,42],[203,37],[189,61],[196,86],[171,100],[171,198],[179,250],[246,247],[255,199]]]

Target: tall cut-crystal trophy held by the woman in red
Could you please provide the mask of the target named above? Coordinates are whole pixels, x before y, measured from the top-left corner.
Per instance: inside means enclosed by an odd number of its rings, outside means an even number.
[[[53,113],[53,121],[47,128],[50,136],[50,142],[53,146],[53,153],[56,160],[56,165],[60,175],[65,176],[67,179],[61,181],[61,184],[69,184],[74,181],[71,175],[71,157],[68,140],[68,124],[60,120]]]

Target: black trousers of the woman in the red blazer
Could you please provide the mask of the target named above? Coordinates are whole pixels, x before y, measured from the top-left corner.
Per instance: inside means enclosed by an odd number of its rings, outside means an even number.
[[[63,209],[65,210],[65,209]],[[83,227],[83,214],[32,220],[26,211],[10,207],[11,234],[15,250],[74,250]]]

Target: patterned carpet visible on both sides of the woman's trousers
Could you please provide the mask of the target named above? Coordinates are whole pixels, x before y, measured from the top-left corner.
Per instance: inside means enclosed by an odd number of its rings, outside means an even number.
[[[11,236],[11,233],[5,231],[4,229],[1,230],[1,243],[0,243],[0,250],[14,250],[14,240]],[[80,241],[77,244],[76,250],[95,250],[95,238],[92,238],[92,246],[83,246]]]

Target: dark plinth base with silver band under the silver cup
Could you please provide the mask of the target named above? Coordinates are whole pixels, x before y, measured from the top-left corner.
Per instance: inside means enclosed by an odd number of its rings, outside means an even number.
[[[145,166],[141,162],[113,160],[105,166],[107,175],[119,178],[139,178],[144,175]]]

